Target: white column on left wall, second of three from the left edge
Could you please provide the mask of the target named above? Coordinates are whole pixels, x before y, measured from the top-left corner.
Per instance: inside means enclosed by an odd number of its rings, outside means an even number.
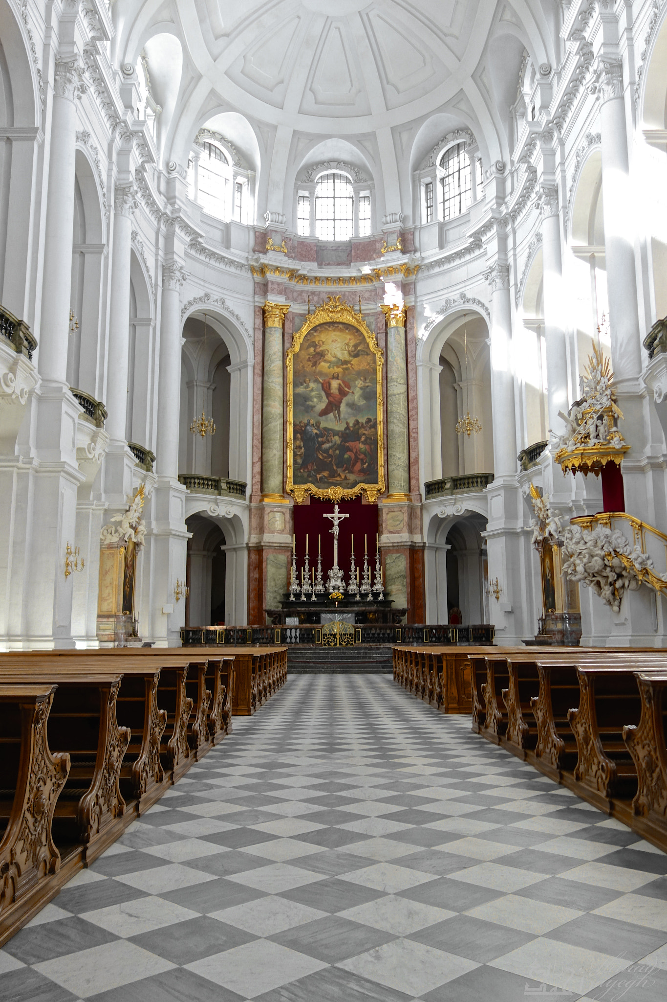
[[[116,186],[111,258],[109,352],[107,357],[106,430],[112,441],[125,441],[130,346],[130,255],[134,183]]]

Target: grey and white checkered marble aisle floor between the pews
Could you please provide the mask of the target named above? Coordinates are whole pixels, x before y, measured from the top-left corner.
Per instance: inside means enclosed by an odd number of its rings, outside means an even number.
[[[467,717],[292,676],[0,951],[0,999],[664,1002],[666,874]]]

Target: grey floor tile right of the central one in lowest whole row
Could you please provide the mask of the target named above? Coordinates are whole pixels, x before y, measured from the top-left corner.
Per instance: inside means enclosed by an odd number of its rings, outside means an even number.
[[[494,922],[474,919],[471,915],[456,915],[435,926],[427,926],[426,929],[412,933],[409,939],[486,964],[529,943],[535,937]]]

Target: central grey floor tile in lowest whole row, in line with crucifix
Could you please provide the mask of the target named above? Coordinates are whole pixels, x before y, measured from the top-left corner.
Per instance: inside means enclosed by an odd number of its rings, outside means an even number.
[[[315,922],[287,929],[270,938],[274,943],[280,943],[291,950],[306,953],[327,964],[336,964],[388,943],[395,936],[359,922],[350,922],[339,915],[331,915],[326,919],[316,919]]]

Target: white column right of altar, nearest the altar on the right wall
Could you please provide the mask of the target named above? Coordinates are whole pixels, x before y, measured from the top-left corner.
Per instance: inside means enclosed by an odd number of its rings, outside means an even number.
[[[491,286],[491,395],[493,400],[493,465],[497,477],[517,472],[512,307],[509,268],[496,262],[484,278]]]

